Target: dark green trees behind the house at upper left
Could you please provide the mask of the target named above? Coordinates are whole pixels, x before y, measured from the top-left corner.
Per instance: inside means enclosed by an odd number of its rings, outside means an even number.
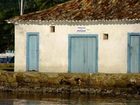
[[[24,0],[24,13],[49,8],[68,0]],[[18,16],[20,0],[0,0],[0,53],[14,50],[14,25],[5,20]]]

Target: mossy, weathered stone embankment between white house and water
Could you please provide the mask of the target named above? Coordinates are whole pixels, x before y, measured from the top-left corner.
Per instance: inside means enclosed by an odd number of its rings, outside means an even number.
[[[0,72],[0,91],[140,98],[140,74]]]

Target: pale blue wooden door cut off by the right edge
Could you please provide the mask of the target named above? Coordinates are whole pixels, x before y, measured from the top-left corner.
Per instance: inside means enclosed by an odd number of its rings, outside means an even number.
[[[140,36],[129,36],[129,72],[140,73]]]

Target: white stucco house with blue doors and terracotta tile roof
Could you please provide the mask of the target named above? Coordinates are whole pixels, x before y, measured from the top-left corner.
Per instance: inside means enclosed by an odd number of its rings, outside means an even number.
[[[15,71],[140,73],[139,0],[71,0],[8,22]]]

